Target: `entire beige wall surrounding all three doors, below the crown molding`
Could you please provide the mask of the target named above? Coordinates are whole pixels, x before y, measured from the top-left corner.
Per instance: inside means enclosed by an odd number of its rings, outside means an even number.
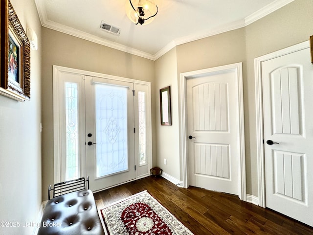
[[[179,74],[243,62],[247,193],[258,196],[254,58],[308,40],[311,0],[295,0],[244,28],[180,45],[156,62],[43,28],[43,191],[53,183],[52,65],[152,82],[153,165],[182,180],[179,166]],[[175,78],[174,78],[175,77]],[[160,126],[159,89],[171,86],[172,126]],[[167,165],[164,165],[164,158]],[[45,198],[45,195],[43,196]]]

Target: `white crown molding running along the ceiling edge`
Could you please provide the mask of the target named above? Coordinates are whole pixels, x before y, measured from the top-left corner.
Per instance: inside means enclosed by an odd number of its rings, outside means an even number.
[[[291,3],[292,1],[294,1],[294,0],[276,0],[276,1],[268,4],[267,6],[263,7],[262,9],[254,12],[253,14],[247,16],[243,20],[232,22],[230,24],[224,24],[224,25],[221,25],[220,27],[212,29],[210,31],[203,31],[203,32],[198,33],[198,34],[193,34],[190,36],[175,39],[175,40],[171,41],[170,43],[168,43],[165,47],[163,47],[162,49],[157,51],[156,54],[154,54],[154,55],[149,54],[149,53],[144,52],[144,51],[141,51],[141,50],[134,49],[132,47],[127,47],[127,46],[124,46],[122,44],[114,43],[112,41],[109,41],[109,40],[103,39],[101,37],[97,37],[97,36],[91,35],[89,33],[65,26],[63,24],[58,24],[58,23],[49,21],[47,19],[45,7],[43,7],[42,1],[41,0],[35,0],[35,3],[36,3],[39,18],[40,18],[40,21],[41,21],[41,24],[43,27],[50,28],[50,29],[74,36],[74,37],[85,39],[85,40],[88,40],[90,42],[94,42],[94,43],[97,43],[97,44],[100,44],[100,45],[103,45],[106,47],[111,47],[113,49],[121,50],[121,51],[130,53],[130,54],[133,54],[136,56],[140,56],[140,57],[143,57],[143,58],[146,58],[149,60],[156,61],[158,58],[160,58],[162,55],[164,55],[165,53],[167,53],[168,51],[170,51],[174,47],[177,47],[177,46],[185,44],[185,43],[193,42],[193,41],[196,41],[199,39],[203,39],[206,37],[210,37],[213,35],[217,35],[220,33],[224,33],[227,31],[231,31],[231,30],[245,27],[249,24],[252,24],[253,22],[255,22],[257,20],[260,20],[261,18],[267,16],[268,14],[278,10],[279,8]]]

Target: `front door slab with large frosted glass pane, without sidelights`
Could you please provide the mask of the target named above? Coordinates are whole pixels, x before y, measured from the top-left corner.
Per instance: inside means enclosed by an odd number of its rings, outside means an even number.
[[[135,178],[134,84],[85,79],[86,174],[95,191]]]

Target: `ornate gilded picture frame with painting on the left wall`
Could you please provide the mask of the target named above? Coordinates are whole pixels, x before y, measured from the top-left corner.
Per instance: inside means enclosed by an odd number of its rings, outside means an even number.
[[[30,42],[10,2],[1,0],[0,94],[30,99]]]

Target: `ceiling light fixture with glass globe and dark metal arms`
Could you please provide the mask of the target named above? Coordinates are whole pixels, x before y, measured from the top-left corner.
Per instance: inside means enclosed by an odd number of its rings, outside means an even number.
[[[158,11],[154,0],[126,1],[126,14],[134,24],[150,24]]]

